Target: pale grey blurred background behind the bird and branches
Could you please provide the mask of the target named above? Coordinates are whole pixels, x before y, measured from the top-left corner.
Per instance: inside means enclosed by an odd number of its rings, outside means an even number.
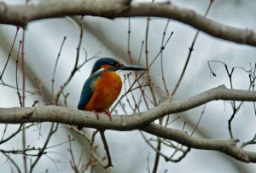
[[[151,1],[132,1],[151,2]],[[155,1],[160,2],[160,1]],[[9,4],[24,4],[20,0],[5,0]],[[30,1],[37,3],[37,1]],[[208,0],[172,0],[172,3],[186,9],[193,9],[198,14],[204,14],[209,1]],[[254,0],[215,0],[212,3],[208,18],[216,20],[228,26],[236,26],[239,28],[249,28],[256,31],[256,1]],[[148,28],[148,58],[153,61],[155,55],[158,54],[161,47],[161,39],[166,27],[166,19],[151,18]],[[85,16],[83,20],[84,36],[82,39],[82,47],[86,49],[87,57],[95,55],[99,57],[109,56],[119,59],[125,63],[130,63],[127,54],[128,45],[128,19],[108,20],[100,17]],[[147,26],[147,18],[131,18],[131,35],[130,47],[131,56],[134,61],[138,60],[141,52],[142,42],[145,39]],[[16,26],[0,25],[0,71],[8,58],[9,50],[13,43],[16,32]],[[172,91],[177,84],[177,79],[182,72],[184,63],[189,54],[189,47],[195,36],[195,28],[184,25],[183,23],[171,20],[166,30],[166,37],[174,32],[166,49],[163,52],[164,73],[167,88]],[[17,36],[11,59],[3,75],[3,81],[0,85],[0,107],[20,107],[16,90],[4,86],[10,84],[15,86],[15,58],[18,52],[19,41],[21,39],[21,29]],[[67,40],[61,50],[61,57],[55,73],[55,90],[58,90],[69,76],[73,69],[76,56],[76,48],[79,43],[79,28],[74,22],[67,18],[37,20],[31,22],[26,29],[26,89],[34,92],[40,85],[44,90],[44,96],[49,97],[51,92],[51,79],[55,67],[56,57],[63,37],[67,36]],[[145,50],[142,54],[142,66],[144,66]],[[252,46],[231,43],[211,37],[200,32],[196,40],[194,51],[192,52],[189,66],[185,72],[180,87],[174,99],[184,99],[191,95],[199,94],[207,89],[212,89],[218,85],[225,84],[230,88],[230,82],[225,68],[220,63],[212,63],[212,71],[216,73],[216,77],[212,77],[207,61],[223,61],[231,70],[234,66],[241,66],[247,70],[250,66],[254,66],[256,57],[256,49]],[[79,63],[84,61],[85,54],[83,49],[80,50]],[[67,97],[67,107],[76,108],[79,102],[80,90],[84,81],[90,75],[91,66],[95,59],[86,63],[75,74],[70,84],[64,90],[69,93]],[[251,65],[250,65],[251,64]],[[21,86],[21,73],[19,68],[19,84]],[[122,72],[123,77],[125,73]],[[165,100],[163,81],[161,78],[160,59],[154,62],[150,67],[150,77],[154,83],[156,93],[161,101]],[[37,81],[35,81],[37,78]],[[233,76],[234,89],[248,89],[250,84],[247,72],[240,68],[236,68]],[[38,84],[39,83],[39,84]],[[42,84],[42,85],[41,85]],[[123,89],[124,92],[124,89]],[[38,94],[26,93],[26,107],[31,107],[32,103],[38,100],[39,106],[46,103]],[[63,104],[63,97],[60,99]],[[144,110],[146,110],[144,108]],[[185,130],[191,131],[198,122],[203,106],[189,110],[188,112],[173,115],[172,119],[179,116],[174,123],[170,125],[172,128],[182,130],[184,122],[186,122]],[[116,111],[124,114],[120,107]],[[130,112],[131,113],[131,112]],[[229,139],[228,119],[232,114],[230,102],[212,101],[207,103],[205,112],[201,118],[201,122],[195,131],[195,136],[202,138],[218,138]],[[0,125],[0,136],[4,129],[4,124]],[[8,125],[6,135],[11,134],[19,125]],[[37,126],[27,130],[27,145],[42,146],[47,136],[50,124],[41,125],[39,132]],[[233,134],[241,141],[247,141],[253,138],[256,124],[255,113],[252,103],[245,103],[241,110],[236,114],[236,118],[232,124]],[[85,129],[90,133],[90,130]],[[40,135],[41,133],[41,135]],[[67,136],[72,134],[75,138],[73,144],[73,152],[77,159],[82,150],[83,162],[88,161],[89,144],[83,138],[73,134],[67,130],[64,125],[60,125],[51,138],[49,146],[54,146],[68,140]],[[148,135],[147,135],[148,136]],[[119,132],[108,130],[106,132],[108,146],[113,160],[113,168],[108,170],[102,169],[100,166],[94,168],[94,172],[148,172],[153,169],[154,151],[148,147],[146,142],[137,130]],[[98,153],[104,155],[102,149],[102,141],[96,138],[96,143],[100,146]],[[241,143],[239,143],[241,144]],[[11,141],[5,142],[0,146],[1,149],[19,149],[21,148],[21,135],[15,136]],[[47,156],[43,156],[39,160],[34,172],[73,172],[70,166],[70,153],[67,150],[68,143],[64,143],[57,147],[49,148]],[[250,151],[256,152],[255,147],[247,147]],[[163,153],[170,152],[170,149],[164,148]],[[11,155],[16,163],[22,168],[22,159],[20,155]],[[11,172],[11,164],[6,157],[0,153],[1,171]],[[191,152],[179,163],[166,162],[160,158],[158,172],[255,172],[255,164],[243,164],[225,156],[223,153],[213,151],[203,151],[192,149]],[[15,169],[14,169],[15,171]],[[88,171],[90,172],[90,170]]]

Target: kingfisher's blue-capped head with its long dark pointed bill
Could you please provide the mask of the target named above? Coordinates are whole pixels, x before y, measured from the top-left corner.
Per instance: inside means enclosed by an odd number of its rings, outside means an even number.
[[[126,66],[123,63],[114,60],[113,58],[101,58],[97,60],[91,70],[91,73],[100,72],[100,71],[147,71],[148,68],[142,66]]]

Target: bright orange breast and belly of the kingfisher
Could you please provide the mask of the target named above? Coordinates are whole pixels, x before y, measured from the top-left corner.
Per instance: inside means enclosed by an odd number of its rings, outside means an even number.
[[[119,96],[122,81],[116,72],[103,72],[102,76],[97,78],[95,84],[93,84],[93,89],[94,93],[84,110],[104,112]]]

